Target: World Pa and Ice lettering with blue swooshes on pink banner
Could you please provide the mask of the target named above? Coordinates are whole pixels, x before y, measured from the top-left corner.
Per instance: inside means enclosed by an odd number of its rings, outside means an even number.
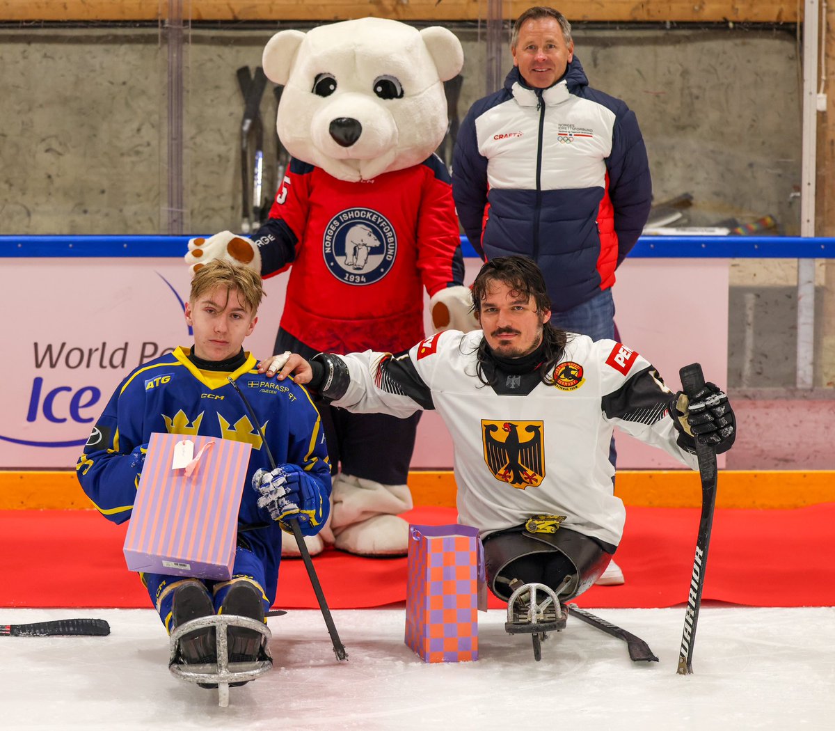
[[[185,302],[165,277],[159,272],[155,273],[170,289],[177,301],[178,314],[174,317],[182,317],[182,313],[185,312]],[[187,332],[189,336],[192,334],[191,327],[188,327]],[[100,345],[97,344],[91,348],[86,344],[82,346],[56,339],[49,343],[36,340],[32,345],[33,369],[38,372],[38,375],[33,378],[32,387],[28,393],[26,423],[44,426],[63,424],[68,434],[72,433],[75,438],[20,439],[18,436],[0,434],[0,441],[28,447],[52,448],[92,446],[89,439],[78,439],[78,425],[92,424],[104,408],[101,388],[94,384],[80,387],[69,386],[66,381],[63,381],[63,375],[67,371],[89,371],[90,378],[96,383],[96,372],[128,371],[130,368],[135,368],[174,350],[154,341],[113,343],[104,340]],[[168,380],[168,376],[161,376],[145,381],[145,388],[148,390],[157,388]],[[94,439],[96,434],[94,430],[90,439]]]

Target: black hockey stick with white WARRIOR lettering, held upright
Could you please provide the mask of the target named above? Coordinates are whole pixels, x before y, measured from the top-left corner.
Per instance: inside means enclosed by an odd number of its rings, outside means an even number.
[[[696,393],[699,393],[705,385],[701,365],[691,363],[681,368],[679,376],[681,388],[692,402]],[[701,518],[699,519],[699,535],[696,537],[696,557],[693,560],[690,591],[687,594],[687,613],[684,619],[684,632],[681,635],[679,664],[676,670],[679,675],[689,675],[693,672],[693,642],[696,640],[701,591],[705,587],[707,549],[711,543],[713,509],[716,505],[716,452],[708,444],[701,444],[696,439],[696,456],[699,458],[699,476],[701,477]]]

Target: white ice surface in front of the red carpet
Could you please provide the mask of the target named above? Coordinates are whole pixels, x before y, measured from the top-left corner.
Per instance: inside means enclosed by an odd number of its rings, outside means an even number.
[[[590,610],[595,612],[595,610]],[[271,617],[274,670],[217,691],[173,678],[151,610],[0,610],[0,623],[102,617],[109,637],[2,637],[0,728],[520,729],[833,728],[835,608],[702,607],[691,676],[676,674],[684,609],[601,609],[660,662],[569,617],[542,661],[530,638],[479,615],[478,662],[427,664],[403,644],[402,609]]]

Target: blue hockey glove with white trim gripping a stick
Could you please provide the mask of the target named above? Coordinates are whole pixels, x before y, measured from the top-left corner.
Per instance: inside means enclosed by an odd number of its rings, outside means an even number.
[[[281,464],[275,470],[256,470],[252,487],[261,495],[258,507],[267,510],[282,530],[292,531],[287,520],[298,520],[301,532],[315,536],[326,515],[319,485],[297,464]]]

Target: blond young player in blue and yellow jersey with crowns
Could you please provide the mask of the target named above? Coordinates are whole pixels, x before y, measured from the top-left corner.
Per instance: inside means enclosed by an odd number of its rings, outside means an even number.
[[[261,277],[245,267],[215,260],[200,268],[185,305],[194,346],[176,348],[129,373],[78,459],[84,492],[108,520],[123,523],[134,505],[153,432],[243,439],[253,445],[247,475],[254,489],[245,488],[240,501],[230,581],[140,575],[169,633],[215,613],[263,622],[276,599],[281,529],[291,531],[287,521],[298,520],[301,533],[313,536],[327,519],[331,475],[316,408],[295,383],[281,390],[259,387],[263,377],[256,359],[241,348],[256,326],[262,296]],[[163,375],[168,377],[164,385],[145,389],[149,378]],[[266,445],[229,378],[245,391]],[[266,447],[276,470],[271,470]],[[230,662],[269,657],[259,632],[230,627],[227,639]],[[187,633],[175,662],[217,662],[214,627]]]

